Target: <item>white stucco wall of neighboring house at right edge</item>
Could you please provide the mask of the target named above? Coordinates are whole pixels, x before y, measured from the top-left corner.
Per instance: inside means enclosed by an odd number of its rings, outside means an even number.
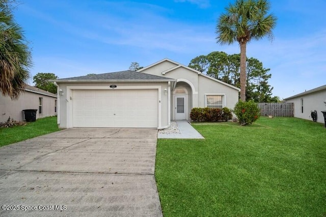
[[[304,112],[301,112],[301,98],[304,100]],[[324,118],[321,111],[326,111],[326,90],[306,94],[304,96],[298,96],[292,99],[286,100],[286,102],[294,103],[294,117],[312,120],[311,111],[317,111],[317,122],[324,123]]]

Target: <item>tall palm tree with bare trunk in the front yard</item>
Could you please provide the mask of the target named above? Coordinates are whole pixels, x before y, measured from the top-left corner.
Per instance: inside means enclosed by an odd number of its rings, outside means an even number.
[[[220,44],[240,45],[240,99],[246,101],[246,49],[247,43],[268,36],[273,39],[272,29],[277,18],[267,14],[270,4],[266,0],[236,0],[227,7],[216,25],[216,40]]]

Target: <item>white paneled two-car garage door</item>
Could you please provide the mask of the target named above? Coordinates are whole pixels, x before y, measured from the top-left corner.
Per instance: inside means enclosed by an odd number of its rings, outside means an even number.
[[[157,100],[157,90],[73,90],[73,126],[156,128]]]

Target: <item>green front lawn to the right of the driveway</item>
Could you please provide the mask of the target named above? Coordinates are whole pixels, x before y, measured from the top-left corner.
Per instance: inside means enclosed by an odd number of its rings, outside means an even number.
[[[158,140],[164,216],[326,216],[326,128],[261,117],[194,124],[205,140]]]

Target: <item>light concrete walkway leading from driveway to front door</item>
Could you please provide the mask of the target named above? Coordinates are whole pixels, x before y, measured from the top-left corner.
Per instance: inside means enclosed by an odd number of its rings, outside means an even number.
[[[187,121],[176,121],[180,133],[159,133],[158,139],[205,139],[191,124]]]

